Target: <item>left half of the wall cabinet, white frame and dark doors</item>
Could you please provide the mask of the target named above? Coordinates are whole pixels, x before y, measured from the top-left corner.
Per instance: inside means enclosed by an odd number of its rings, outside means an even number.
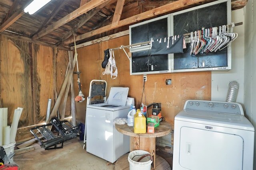
[[[170,36],[170,21],[168,19],[169,16],[166,15],[130,26],[130,44]],[[170,72],[170,55],[151,55],[150,43],[133,46],[130,48],[130,52],[132,52],[131,75]]]

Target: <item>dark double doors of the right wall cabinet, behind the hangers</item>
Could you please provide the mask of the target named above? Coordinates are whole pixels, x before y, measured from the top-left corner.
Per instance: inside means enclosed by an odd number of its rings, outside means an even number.
[[[174,35],[190,33],[202,28],[227,24],[227,3],[174,15]],[[190,55],[190,43],[184,53],[174,54],[174,70],[228,66],[227,47],[222,51]]]

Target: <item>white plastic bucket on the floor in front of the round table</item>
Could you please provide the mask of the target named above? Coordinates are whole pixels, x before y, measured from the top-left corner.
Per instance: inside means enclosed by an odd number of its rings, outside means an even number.
[[[140,158],[142,159],[138,162]],[[128,154],[128,162],[130,170],[151,170],[153,159],[152,155],[145,150],[134,150]]]

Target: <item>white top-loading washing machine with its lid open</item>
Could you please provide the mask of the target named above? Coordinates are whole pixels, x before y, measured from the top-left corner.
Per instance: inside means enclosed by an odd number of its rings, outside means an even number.
[[[130,137],[119,133],[113,121],[127,117],[129,88],[111,87],[106,103],[86,106],[86,151],[114,163],[130,151]]]

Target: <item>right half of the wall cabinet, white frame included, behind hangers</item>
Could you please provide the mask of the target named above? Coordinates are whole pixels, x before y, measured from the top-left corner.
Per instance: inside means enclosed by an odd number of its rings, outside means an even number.
[[[171,34],[186,34],[204,28],[231,23],[231,2],[217,1],[170,14]],[[231,45],[221,51],[191,54],[190,43],[184,53],[171,55],[172,72],[200,70],[230,70]]]

